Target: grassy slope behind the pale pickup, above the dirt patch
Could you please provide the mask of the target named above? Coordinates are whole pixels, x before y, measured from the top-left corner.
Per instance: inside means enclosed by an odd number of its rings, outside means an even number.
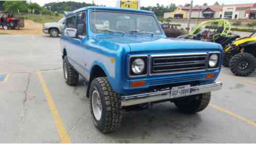
[[[25,19],[33,20],[36,23],[51,23],[51,22],[58,22],[64,14],[60,14],[59,16],[53,15],[43,15],[43,14],[17,14],[16,16],[23,16]]]

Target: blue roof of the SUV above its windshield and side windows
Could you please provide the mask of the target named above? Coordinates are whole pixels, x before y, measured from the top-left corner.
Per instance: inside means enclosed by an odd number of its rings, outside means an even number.
[[[84,7],[84,8],[80,8],[75,11],[69,12],[69,13],[67,13],[67,16],[73,15],[73,14],[81,12],[81,11],[86,11],[88,9],[154,14],[152,11],[147,11],[147,10],[89,6],[89,7]]]

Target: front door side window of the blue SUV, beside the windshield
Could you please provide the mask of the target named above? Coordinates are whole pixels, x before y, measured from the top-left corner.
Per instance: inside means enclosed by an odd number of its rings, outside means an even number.
[[[86,35],[86,15],[85,12],[77,14],[77,35]]]

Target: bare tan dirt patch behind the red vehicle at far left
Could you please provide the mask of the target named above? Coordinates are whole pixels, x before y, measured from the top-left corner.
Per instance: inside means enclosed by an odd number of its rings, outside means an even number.
[[[45,35],[45,33],[42,32],[42,29],[42,24],[25,19],[25,28],[4,30],[1,27],[0,33],[8,33],[12,35]]]

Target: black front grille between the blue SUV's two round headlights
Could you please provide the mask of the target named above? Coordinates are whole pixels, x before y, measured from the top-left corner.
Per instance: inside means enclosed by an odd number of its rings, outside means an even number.
[[[153,55],[151,74],[169,74],[206,70],[206,53]]]

